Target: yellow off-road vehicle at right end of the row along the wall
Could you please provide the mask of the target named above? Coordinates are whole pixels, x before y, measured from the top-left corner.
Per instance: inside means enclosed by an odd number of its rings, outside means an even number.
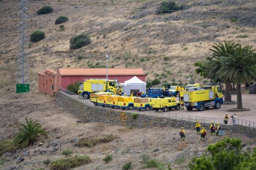
[[[165,112],[172,108],[180,110],[180,102],[177,102],[175,97],[155,98],[151,99],[151,107],[156,111],[163,110]]]

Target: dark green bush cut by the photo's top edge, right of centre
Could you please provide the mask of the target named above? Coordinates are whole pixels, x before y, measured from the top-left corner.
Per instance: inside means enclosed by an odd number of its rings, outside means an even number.
[[[182,9],[183,6],[178,6],[174,1],[163,1],[157,14],[171,13]]]

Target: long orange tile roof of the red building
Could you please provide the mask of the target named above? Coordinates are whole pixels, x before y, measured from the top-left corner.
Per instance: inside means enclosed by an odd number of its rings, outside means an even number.
[[[61,76],[105,76],[107,68],[59,68]],[[142,68],[108,68],[109,76],[146,75]]]

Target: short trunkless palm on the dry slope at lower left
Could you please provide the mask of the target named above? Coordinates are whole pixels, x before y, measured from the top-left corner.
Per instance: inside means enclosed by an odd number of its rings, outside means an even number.
[[[19,128],[19,132],[16,134],[14,143],[15,144],[32,144],[36,141],[40,135],[47,136],[47,133],[44,129],[41,128],[38,120],[32,120],[31,118],[25,118],[26,124],[21,123],[21,127]]]

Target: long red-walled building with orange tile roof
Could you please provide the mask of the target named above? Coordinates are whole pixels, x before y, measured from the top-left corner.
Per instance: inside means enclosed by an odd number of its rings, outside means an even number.
[[[146,74],[142,68],[108,68],[108,79],[125,82],[132,77],[145,82]],[[70,83],[82,82],[84,79],[106,79],[107,68],[58,68],[45,70],[38,74],[38,91],[52,95],[59,87],[67,88]]]

